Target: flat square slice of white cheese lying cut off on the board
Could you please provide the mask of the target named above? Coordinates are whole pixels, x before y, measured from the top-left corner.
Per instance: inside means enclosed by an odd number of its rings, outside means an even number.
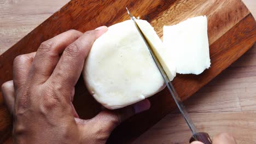
[[[210,67],[207,17],[197,16],[177,25],[164,26],[166,53],[179,74],[201,74]]]

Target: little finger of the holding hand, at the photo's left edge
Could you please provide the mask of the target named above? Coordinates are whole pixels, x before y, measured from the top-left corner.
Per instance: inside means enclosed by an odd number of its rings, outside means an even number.
[[[15,103],[14,102],[15,97],[14,97],[13,81],[7,81],[7,82],[3,83],[2,93],[3,93],[4,102],[7,105],[9,112],[13,113],[14,112],[14,103]]]

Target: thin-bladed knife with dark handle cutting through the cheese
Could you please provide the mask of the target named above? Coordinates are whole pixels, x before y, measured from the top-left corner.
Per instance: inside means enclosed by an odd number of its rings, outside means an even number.
[[[150,55],[154,59],[154,62],[156,64],[156,66],[158,67],[158,69],[162,75],[162,78],[164,79],[165,84],[172,95],[172,98],[174,99],[175,103],[177,104],[179,111],[181,111],[182,116],[185,119],[185,122],[188,124],[188,127],[193,134],[191,136],[189,142],[191,143],[193,141],[201,141],[205,144],[212,144],[212,140],[210,139],[210,136],[207,133],[197,132],[197,129],[196,129],[194,123],[192,122],[191,118],[189,117],[188,112],[185,110],[185,107],[181,101],[181,98],[179,98],[179,95],[176,93],[174,87],[172,86],[171,81],[168,79],[164,68],[162,68],[162,65],[159,62],[159,59],[156,57],[156,55],[152,49],[152,46],[148,42],[146,36],[141,31],[141,28],[139,28],[137,22],[135,21],[135,17],[131,15],[130,11],[127,8],[126,8],[126,10],[127,10],[127,13],[130,15],[131,19],[133,20],[135,27],[137,28],[139,34],[141,35],[141,38],[143,39],[144,43],[147,45]]]

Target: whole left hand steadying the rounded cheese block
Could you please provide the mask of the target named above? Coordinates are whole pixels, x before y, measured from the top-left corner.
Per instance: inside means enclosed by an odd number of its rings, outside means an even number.
[[[84,34],[70,30],[44,41],[37,52],[15,58],[13,81],[2,85],[15,143],[105,143],[118,124],[149,109],[146,99],[92,119],[78,117],[74,86],[92,44],[106,31],[106,26]]]

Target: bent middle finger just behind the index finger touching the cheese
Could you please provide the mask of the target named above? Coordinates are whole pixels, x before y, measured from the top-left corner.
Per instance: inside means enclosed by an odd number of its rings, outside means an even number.
[[[79,31],[69,30],[44,41],[39,46],[32,65],[35,71],[34,78],[37,79],[38,82],[45,82],[51,73],[53,73],[61,53],[81,35],[82,33]]]

